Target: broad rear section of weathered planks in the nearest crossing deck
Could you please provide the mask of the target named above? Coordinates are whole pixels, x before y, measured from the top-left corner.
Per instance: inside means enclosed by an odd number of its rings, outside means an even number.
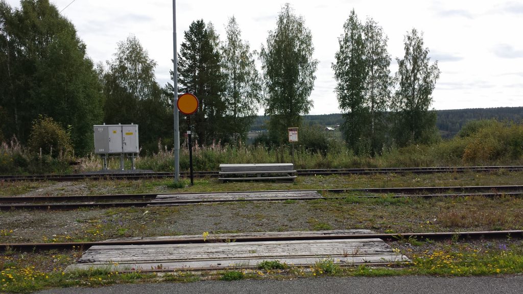
[[[195,261],[209,259],[283,258],[314,256],[360,256],[391,254],[380,239],[267,241],[162,245],[92,246],[78,263]]]

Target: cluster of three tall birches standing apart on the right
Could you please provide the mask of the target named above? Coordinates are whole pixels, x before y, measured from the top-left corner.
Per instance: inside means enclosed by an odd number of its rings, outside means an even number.
[[[373,155],[384,145],[436,141],[436,112],[430,105],[440,71],[437,61],[430,62],[423,33],[407,33],[405,55],[396,58],[399,69],[392,76],[388,37],[376,21],[361,22],[353,9],[343,28],[332,67],[350,148]]]

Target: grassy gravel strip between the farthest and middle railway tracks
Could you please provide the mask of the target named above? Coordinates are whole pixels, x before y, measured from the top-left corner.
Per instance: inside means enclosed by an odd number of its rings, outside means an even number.
[[[348,176],[299,176],[293,183],[274,182],[229,182],[221,183],[218,179],[197,178],[194,186],[185,185],[178,188],[172,179],[165,180],[82,180],[74,182],[81,186],[85,195],[100,194],[140,194],[140,193],[205,193],[220,191],[245,190],[286,190],[286,189],[328,189],[328,188],[386,188],[386,187],[436,187],[436,186],[481,186],[481,185],[520,185],[523,172],[491,172],[491,173],[437,173],[437,174],[373,174]],[[185,179],[180,181],[184,182]],[[3,182],[0,183],[0,195],[20,195],[54,185],[54,182]],[[50,190],[49,194],[79,193],[76,189],[70,192]],[[348,201],[360,201],[356,196],[367,196],[366,193],[335,194],[345,196]],[[324,195],[329,196],[329,195]],[[380,201],[395,205],[401,202],[383,196]],[[288,203],[292,203],[290,200]]]

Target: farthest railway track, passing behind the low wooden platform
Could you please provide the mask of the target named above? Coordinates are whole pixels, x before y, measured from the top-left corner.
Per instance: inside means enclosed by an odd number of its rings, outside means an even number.
[[[297,175],[355,175],[355,174],[386,174],[386,173],[462,173],[462,172],[494,172],[494,171],[523,171],[523,166],[440,166],[440,167],[389,167],[389,168],[338,168],[338,169],[298,169]],[[218,178],[218,171],[195,172],[195,177]],[[0,181],[72,181],[83,179],[148,179],[173,178],[172,172],[142,172],[142,173],[93,173],[70,175],[3,175]],[[189,177],[188,172],[181,172],[180,177]]]

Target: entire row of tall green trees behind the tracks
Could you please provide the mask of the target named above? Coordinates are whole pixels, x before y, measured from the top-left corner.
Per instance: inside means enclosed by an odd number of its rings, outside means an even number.
[[[43,115],[69,130],[75,152],[84,155],[93,148],[93,125],[133,122],[140,125],[143,148],[154,152],[160,138],[172,145],[174,93],[189,92],[200,100],[191,118],[200,145],[245,140],[259,108],[270,118],[270,141],[281,144],[287,128],[299,127],[313,106],[318,61],[312,35],[289,4],[259,52],[242,39],[234,17],[223,40],[212,23],[193,21],[177,53],[175,89],[156,82],[157,63],[133,35],[118,43],[111,60],[94,64],[74,25],[48,0],[20,3],[13,9],[0,0],[0,140],[16,135],[27,142]],[[345,140],[356,153],[436,138],[429,108],[437,62],[430,62],[423,34],[413,29],[392,76],[387,40],[376,21],[363,24],[354,10],[339,38],[335,92]],[[385,120],[387,113],[393,119]],[[183,116],[180,126],[188,128]]]

